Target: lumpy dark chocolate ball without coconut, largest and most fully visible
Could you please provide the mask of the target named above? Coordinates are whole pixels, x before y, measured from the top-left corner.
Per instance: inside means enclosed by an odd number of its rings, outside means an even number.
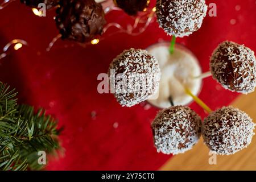
[[[56,25],[63,39],[88,42],[101,35],[106,23],[104,10],[94,0],[60,1]]]

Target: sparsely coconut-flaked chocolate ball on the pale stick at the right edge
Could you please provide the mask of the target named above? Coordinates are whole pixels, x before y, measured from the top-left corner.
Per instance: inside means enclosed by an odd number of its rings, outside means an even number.
[[[256,82],[256,60],[251,49],[225,41],[210,58],[210,71],[215,80],[233,92],[250,93]]]

